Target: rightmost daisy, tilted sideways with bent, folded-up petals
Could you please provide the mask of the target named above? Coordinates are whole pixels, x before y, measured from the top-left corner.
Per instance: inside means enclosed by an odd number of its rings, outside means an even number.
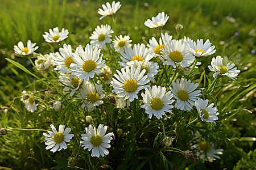
[[[208,66],[210,71],[214,71],[216,73],[213,74],[215,78],[217,75],[228,76],[232,80],[236,80],[236,76],[240,73],[240,70],[237,70],[237,67],[234,67],[234,64],[227,63],[226,66],[222,63],[223,58],[221,56],[217,56],[216,58],[212,58],[212,62],[210,62],[211,66]],[[234,67],[234,68],[233,68]],[[233,68],[233,69],[232,69]]]

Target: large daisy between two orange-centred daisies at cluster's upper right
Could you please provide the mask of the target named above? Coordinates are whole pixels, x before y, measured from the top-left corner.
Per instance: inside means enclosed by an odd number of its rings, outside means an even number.
[[[171,40],[167,42],[165,49],[162,50],[164,59],[167,59],[164,61],[163,65],[170,65],[174,67],[174,69],[177,65],[187,67],[189,63],[193,62],[195,59],[195,57],[188,53],[186,46],[181,40]]]

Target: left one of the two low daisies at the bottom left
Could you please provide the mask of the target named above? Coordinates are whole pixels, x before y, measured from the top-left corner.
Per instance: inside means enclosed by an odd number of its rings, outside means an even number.
[[[71,131],[71,128],[66,128],[65,125],[59,125],[59,132],[57,132],[56,128],[53,125],[50,125],[52,128],[52,131],[48,130],[49,134],[43,133],[43,135],[46,137],[46,149],[52,148],[51,152],[56,152],[57,150],[60,151],[62,148],[64,150],[67,148],[67,145],[65,142],[70,142],[71,139],[74,137],[73,134],[69,134]]]

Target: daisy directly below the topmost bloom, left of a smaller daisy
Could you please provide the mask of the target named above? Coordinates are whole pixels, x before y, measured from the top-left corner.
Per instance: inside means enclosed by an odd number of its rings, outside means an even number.
[[[97,26],[95,31],[93,31],[92,36],[89,37],[90,44],[93,46],[96,46],[100,49],[106,49],[106,44],[109,44],[112,40],[110,39],[112,37],[111,33],[114,31],[110,28],[108,24]]]

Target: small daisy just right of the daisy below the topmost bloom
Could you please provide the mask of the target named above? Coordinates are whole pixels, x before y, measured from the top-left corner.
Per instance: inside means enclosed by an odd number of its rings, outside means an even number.
[[[115,49],[115,52],[123,52],[125,48],[131,48],[131,40],[130,36],[124,36],[119,35],[118,37],[115,36],[115,40],[113,40],[113,46]]]

